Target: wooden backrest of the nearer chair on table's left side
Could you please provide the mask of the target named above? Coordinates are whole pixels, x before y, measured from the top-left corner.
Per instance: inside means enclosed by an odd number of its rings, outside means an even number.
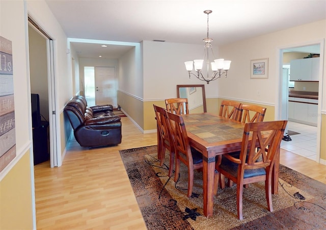
[[[193,165],[192,152],[183,118],[168,111],[166,111],[166,115],[175,151],[178,151],[179,154],[183,154],[188,164]]]

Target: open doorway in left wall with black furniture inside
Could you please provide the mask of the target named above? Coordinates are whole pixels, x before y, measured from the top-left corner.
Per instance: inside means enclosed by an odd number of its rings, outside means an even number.
[[[34,160],[35,150],[38,150],[38,155],[41,155],[34,164],[50,160],[50,167],[57,167],[62,162],[61,154],[57,151],[54,44],[30,16],[28,20],[31,94],[38,95],[36,97],[38,98],[36,107],[39,107],[37,118],[40,119],[40,129],[42,129],[34,132],[35,127],[33,128],[33,140],[36,140],[33,141]]]

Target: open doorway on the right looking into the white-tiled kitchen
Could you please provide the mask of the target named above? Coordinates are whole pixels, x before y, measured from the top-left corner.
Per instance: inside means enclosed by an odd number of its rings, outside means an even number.
[[[318,105],[321,105],[322,93],[320,44],[284,48],[280,54],[283,60],[280,116],[288,120],[288,139],[282,140],[281,148],[317,162],[320,154]]]

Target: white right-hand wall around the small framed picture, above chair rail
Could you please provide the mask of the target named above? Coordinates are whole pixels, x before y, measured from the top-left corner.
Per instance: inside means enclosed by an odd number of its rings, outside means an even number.
[[[220,79],[219,96],[237,100],[277,104],[280,94],[281,48],[302,46],[325,38],[325,20],[301,25],[220,47],[221,54],[232,60],[227,79]],[[268,79],[250,79],[250,61],[269,58]],[[257,94],[260,90],[260,96]]]

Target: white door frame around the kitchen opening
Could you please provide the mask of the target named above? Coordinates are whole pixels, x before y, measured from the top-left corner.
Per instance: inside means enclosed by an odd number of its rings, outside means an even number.
[[[295,45],[288,45],[284,47],[278,48],[278,54],[279,54],[279,61],[277,64],[277,68],[279,70],[279,80],[278,80],[278,90],[276,90],[277,93],[277,104],[275,107],[275,113],[276,118],[281,119],[282,114],[282,87],[285,87],[282,84],[282,78],[283,78],[283,50],[284,49],[290,49],[290,48],[296,48],[296,47],[302,47],[302,46],[309,46],[309,45],[320,45],[320,59],[319,59],[319,86],[318,86],[318,116],[317,116],[317,149],[316,149],[316,159],[315,161],[317,163],[320,163],[320,134],[321,134],[321,107],[323,104],[323,98],[322,98],[322,86],[324,84],[325,79],[323,79],[323,57],[324,57],[324,39],[317,40],[317,41],[310,41],[306,43],[300,43]],[[288,103],[286,105],[288,107]],[[284,109],[284,108],[283,108]]]

